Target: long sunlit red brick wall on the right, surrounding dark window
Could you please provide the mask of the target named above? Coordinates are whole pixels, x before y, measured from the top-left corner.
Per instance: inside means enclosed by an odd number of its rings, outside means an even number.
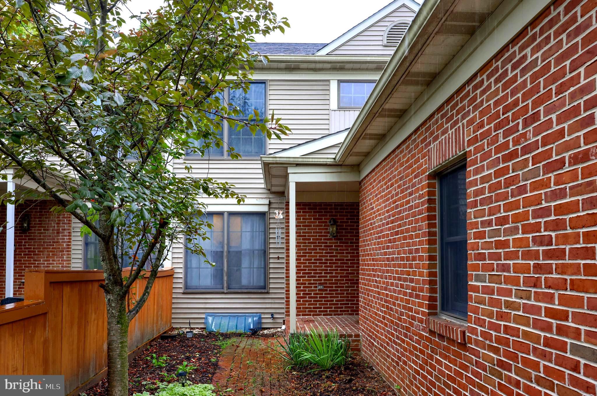
[[[595,7],[555,2],[362,180],[362,353],[401,394],[596,394]],[[465,150],[466,344],[427,319],[429,171]]]

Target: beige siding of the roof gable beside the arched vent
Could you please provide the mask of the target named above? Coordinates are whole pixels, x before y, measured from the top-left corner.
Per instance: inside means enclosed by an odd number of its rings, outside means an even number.
[[[338,46],[330,55],[392,55],[396,46],[383,45],[384,32],[390,24],[398,20],[412,21],[415,14],[413,10],[402,5]]]

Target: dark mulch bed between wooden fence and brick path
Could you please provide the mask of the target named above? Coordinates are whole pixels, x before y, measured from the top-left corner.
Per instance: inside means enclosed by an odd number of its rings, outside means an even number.
[[[238,337],[238,334],[200,332],[195,333],[192,338],[179,335],[174,338],[158,339],[152,342],[128,365],[129,394],[143,393],[143,391],[153,394],[155,391],[147,389],[146,386],[149,384],[143,382],[164,382],[162,373],[176,375],[176,369],[183,361],[198,367],[189,373],[188,379],[190,382],[211,383],[218,367],[221,341],[234,337]],[[153,353],[158,357],[167,356],[170,358],[165,367],[153,367],[152,361],[146,359],[146,357],[151,357]],[[106,396],[106,378],[102,379],[93,388],[87,389],[85,394],[87,396]]]

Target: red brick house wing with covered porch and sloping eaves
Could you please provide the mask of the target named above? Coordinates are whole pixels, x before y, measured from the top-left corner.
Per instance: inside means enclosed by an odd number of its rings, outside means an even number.
[[[291,332],[401,395],[596,394],[596,10],[425,0],[334,155],[261,157]]]

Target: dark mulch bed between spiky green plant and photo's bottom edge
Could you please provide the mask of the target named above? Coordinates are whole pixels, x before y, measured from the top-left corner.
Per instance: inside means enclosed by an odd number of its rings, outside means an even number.
[[[291,396],[394,396],[381,375],[360,356],[342,368],[318,372],[288,371],[284,394]]]

